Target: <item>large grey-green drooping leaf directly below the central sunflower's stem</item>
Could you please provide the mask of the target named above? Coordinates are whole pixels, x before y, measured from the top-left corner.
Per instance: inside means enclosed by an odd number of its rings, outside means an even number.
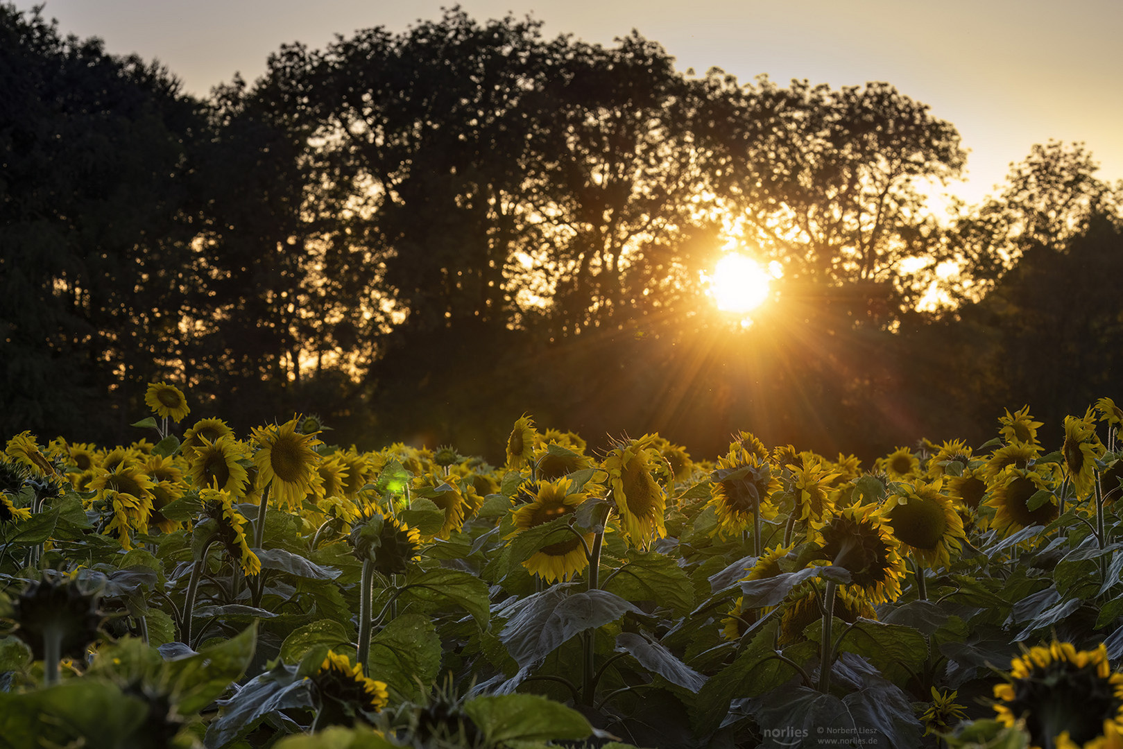
[[[642,613],[608,591],[570,591],[570,585],[553,585],[496,610],[508,620],[500,640],[520,669],[532,667],[578,632],[614,622],[629,611]]]

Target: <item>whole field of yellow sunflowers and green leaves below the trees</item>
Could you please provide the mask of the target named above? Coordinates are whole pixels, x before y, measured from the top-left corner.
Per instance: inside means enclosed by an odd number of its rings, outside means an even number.
[[[873,465],[193,426],[0,454],[0,746],[1123,747],[1123,410]]]

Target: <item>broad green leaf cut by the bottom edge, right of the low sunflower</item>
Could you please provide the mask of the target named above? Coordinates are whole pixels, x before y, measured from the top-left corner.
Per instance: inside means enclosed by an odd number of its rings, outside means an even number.
[[[464,712],[487,737],[490,746],[509,741],[579,741],[593,733],[576,710],[537,694],[476,697]]]

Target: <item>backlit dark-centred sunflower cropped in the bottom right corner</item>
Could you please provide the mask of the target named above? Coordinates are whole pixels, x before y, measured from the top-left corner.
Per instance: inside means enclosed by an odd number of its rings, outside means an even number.
[[[1024,721],[1034,747],[1097,746],[1090,742],[1123,733],[1123,674],[1112,672],[1103,643],[1078,651],[1053,640],[1031,648],[1011,661],[994,696],[998,722]]]

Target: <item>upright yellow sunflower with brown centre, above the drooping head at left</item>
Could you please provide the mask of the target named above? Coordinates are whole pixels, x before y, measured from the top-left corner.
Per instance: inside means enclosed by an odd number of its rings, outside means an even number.
[[[257,465],[258,481],[264,487],[273,487],[273,500],[294,511],[313,491],[316,467],[320,456],[313,449],[321,445],[314,435],[296,431],[300,417],[280,427],[258,427],[253,430],[254,464]]]

